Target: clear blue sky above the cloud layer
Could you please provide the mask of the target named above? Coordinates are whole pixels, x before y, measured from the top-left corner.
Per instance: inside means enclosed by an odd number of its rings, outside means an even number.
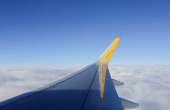
[[[0,0],[0,64],[169,64],[169,0]]]

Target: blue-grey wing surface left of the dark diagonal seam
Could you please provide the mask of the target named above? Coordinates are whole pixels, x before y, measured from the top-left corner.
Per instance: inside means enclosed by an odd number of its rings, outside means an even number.
[[[0,110],[80,110],[93,78],[95,64],[68,78],[0,103]]]

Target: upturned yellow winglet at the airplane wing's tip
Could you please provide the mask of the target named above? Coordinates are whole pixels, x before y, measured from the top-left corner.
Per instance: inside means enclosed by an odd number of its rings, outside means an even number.
[[[102,54],[101,60],[104,61],[110,61],[110,58],[112,57],[112,54],[119,42],[120,38],[116,38],[114,42],[106,49],[106,51]]]

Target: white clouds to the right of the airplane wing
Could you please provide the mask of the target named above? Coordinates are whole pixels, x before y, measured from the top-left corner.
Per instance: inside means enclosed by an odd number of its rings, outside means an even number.
[[[170,65],[109,65],[120,97],[138,102],[133,110],[167,110],[170,103]]]

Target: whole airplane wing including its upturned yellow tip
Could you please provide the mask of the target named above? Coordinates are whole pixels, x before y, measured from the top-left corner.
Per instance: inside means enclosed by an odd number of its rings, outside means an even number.
[[[108,62],[119,42],[116,38],[99,59],[53,83],[0,103],[0,110],[124,110],[139,104],[120,98]]]

